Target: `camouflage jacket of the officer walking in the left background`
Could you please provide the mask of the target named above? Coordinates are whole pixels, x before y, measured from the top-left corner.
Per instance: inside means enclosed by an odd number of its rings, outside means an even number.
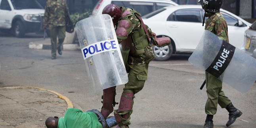
[[[65,16],[68,14],[66,0],[47,0],[43,26],[65,26]]]

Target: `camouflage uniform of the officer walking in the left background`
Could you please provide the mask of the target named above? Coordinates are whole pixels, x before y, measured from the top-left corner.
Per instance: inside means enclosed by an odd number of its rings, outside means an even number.
[[[52,57],[56,57],[56,50],[61,48],[65,39],[65,17],[68,15],[66,0],[48,0],[45,6],[43,26],[49,27]],[[58,44],[57,44],[58,37]]]

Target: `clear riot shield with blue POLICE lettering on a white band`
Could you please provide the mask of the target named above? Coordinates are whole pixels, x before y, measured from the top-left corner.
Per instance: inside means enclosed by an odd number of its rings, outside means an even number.
[[[78,21],[75,28],[94,91],[127,83],[128,76],[111,17],[107,14],[88,17]]]

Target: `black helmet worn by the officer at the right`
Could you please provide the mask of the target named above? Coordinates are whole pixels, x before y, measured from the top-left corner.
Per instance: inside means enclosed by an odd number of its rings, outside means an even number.
[[[223,0],[198,0],[198,2],[202,1],[202,8],[205,11],[210,12],[220,12],[220,8],[222,8]]]

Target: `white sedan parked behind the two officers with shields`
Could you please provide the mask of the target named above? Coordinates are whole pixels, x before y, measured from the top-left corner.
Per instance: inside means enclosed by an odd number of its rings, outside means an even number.
[[[220,11],[227,21],[229,43],[241,49],[245,30],[251,23],[229,11]],[[173,53],[192,53],[204,32],[203,17],[201,5],[168,6],[143,16],[144,23],[157,37],[168,36],[172,41],[169,46],[153,48],[156,60],[165,61]]]

